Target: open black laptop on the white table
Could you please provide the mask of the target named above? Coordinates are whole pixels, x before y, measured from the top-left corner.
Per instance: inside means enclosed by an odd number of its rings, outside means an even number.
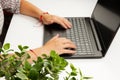
[[[73,25],[71,29],[65,30],[55,23],[45,25],[44,44],[56,34],[72,40],[77,46],[76,54],[61,55],[68,59],[104,57],[120,26],[120,16],[98,3],[91,17],[66,18]]]

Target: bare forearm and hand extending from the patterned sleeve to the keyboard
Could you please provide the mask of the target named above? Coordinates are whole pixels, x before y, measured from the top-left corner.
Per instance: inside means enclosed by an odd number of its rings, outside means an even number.
[[[52,23],[58,23],[61,26],[63,26],[63,28],[65,29],[71,28],[72,26],[67,19],[56,16],[56,15],[44,13],[40,8],[34,6],[27,0],[21,0],[20,13],[38,18],[40,19],[40,21],[42,21],[43,24],[46,24],[46,25],[52,24]]]

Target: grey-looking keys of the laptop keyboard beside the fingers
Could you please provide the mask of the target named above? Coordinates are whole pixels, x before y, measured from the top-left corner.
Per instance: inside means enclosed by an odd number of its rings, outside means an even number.
[[[72,40],[77,45],[77,53],[93,54],[92,43],[84,18],[67,18],[72,23],[72,29],[66,30],[64,36]]]

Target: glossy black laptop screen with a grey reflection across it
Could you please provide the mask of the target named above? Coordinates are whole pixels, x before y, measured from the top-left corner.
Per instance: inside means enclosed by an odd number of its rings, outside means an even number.
[[[92,15],[102,43],[103,53],[106,53],[120,26],[120,15],[113,10],[110,7],[97,4]]]

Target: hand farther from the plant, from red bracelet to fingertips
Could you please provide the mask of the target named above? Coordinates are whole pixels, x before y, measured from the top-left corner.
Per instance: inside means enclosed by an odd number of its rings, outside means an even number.
[[[72,26],[72,24],[67,19],[65,19],[64,17],[56,16],[56,15],[43,14],[41,17],[41,20],[42,20],[42,23],[45,25],[57,23],[57,24],[60,24],[65,29],[71,28]]]

